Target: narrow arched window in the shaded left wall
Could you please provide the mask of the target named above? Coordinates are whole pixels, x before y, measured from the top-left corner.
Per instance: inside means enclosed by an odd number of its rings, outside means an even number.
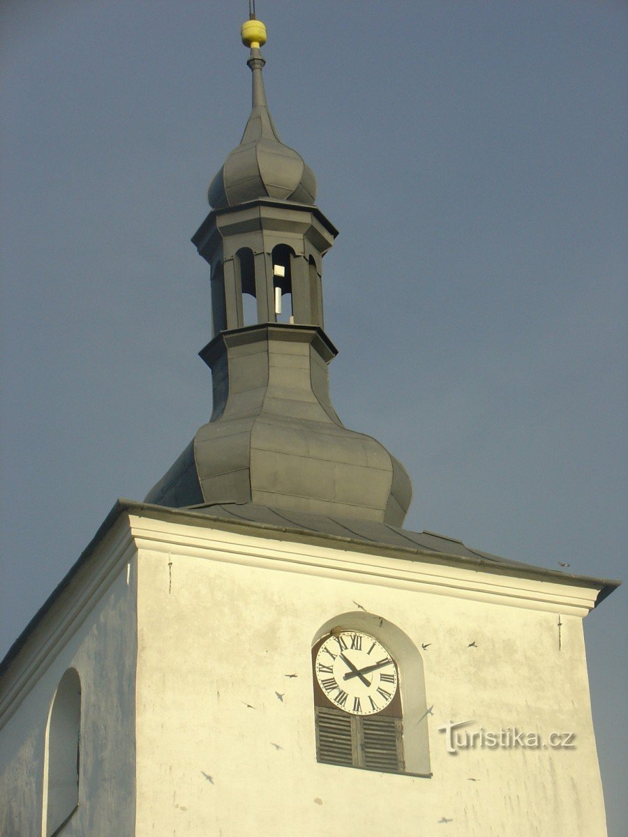
[[[50,707],[44,760],[44,837],[53,837],[79,804],[80,679],[68,669]]]

